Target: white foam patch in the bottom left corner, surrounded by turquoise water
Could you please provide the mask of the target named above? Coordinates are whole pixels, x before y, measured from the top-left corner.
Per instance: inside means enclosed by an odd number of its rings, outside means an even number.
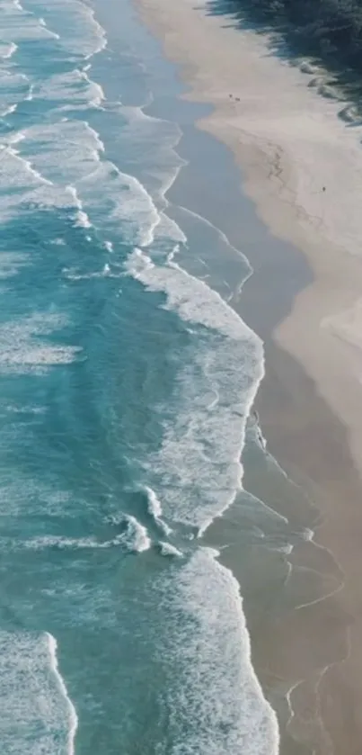
[[[1,748],[6,755],[74,755],[75,707],[51,634],[0,633]]]

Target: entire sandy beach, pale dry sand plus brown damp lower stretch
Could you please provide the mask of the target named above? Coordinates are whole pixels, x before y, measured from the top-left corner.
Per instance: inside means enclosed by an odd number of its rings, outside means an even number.
[[[320,511],[316,542],[323,551],[315,569],[334,574],[335,588],[330,597],[278,620],[268,643],[255,641],[254,653],[264,688],[275,687],[276,679],[292,688],[294,715],[281,744],[285,755],[357,755],[362,746],[361,130],[339,118],[347,103],[323,97],[311,86],[315,72],[302,60],[291,66],[278,59],[266,37],[236,29],[233,19],[213,14],[204,0],[196,5],[137,0],[137,7],[163,40],[166,55],[180,64],[187,98],[214,105],[199,128],[233,150],[243,191],[260,219],[275,237],[303,253],[311,271],[312,283],[302,286],[287,317],[270,333],[268,306],[260,311],[255,302],[269,280],[272,307],[273,291],[275,297],[285,295],[291,281],[283,280],[285,257],[274,264],[268,249],[259,250],[240,307],[265,340],[266,378],[257,402],[263,434],[270,452]],[[294,558],[318,562],[318,551],[305,544]]]

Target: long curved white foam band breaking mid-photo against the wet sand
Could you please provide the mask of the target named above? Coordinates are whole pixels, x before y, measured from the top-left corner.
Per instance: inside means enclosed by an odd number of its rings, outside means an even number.
[[[166,517],[201,534],[242,487],[240,457],[263,376],[262,344],[216,292],[178,265],[154,265],[138,249],[126,268],[148,290],[165,293],[165,309],[207,328],[186,357],[174,405],[164,408],[161,448],[144,464]]]

